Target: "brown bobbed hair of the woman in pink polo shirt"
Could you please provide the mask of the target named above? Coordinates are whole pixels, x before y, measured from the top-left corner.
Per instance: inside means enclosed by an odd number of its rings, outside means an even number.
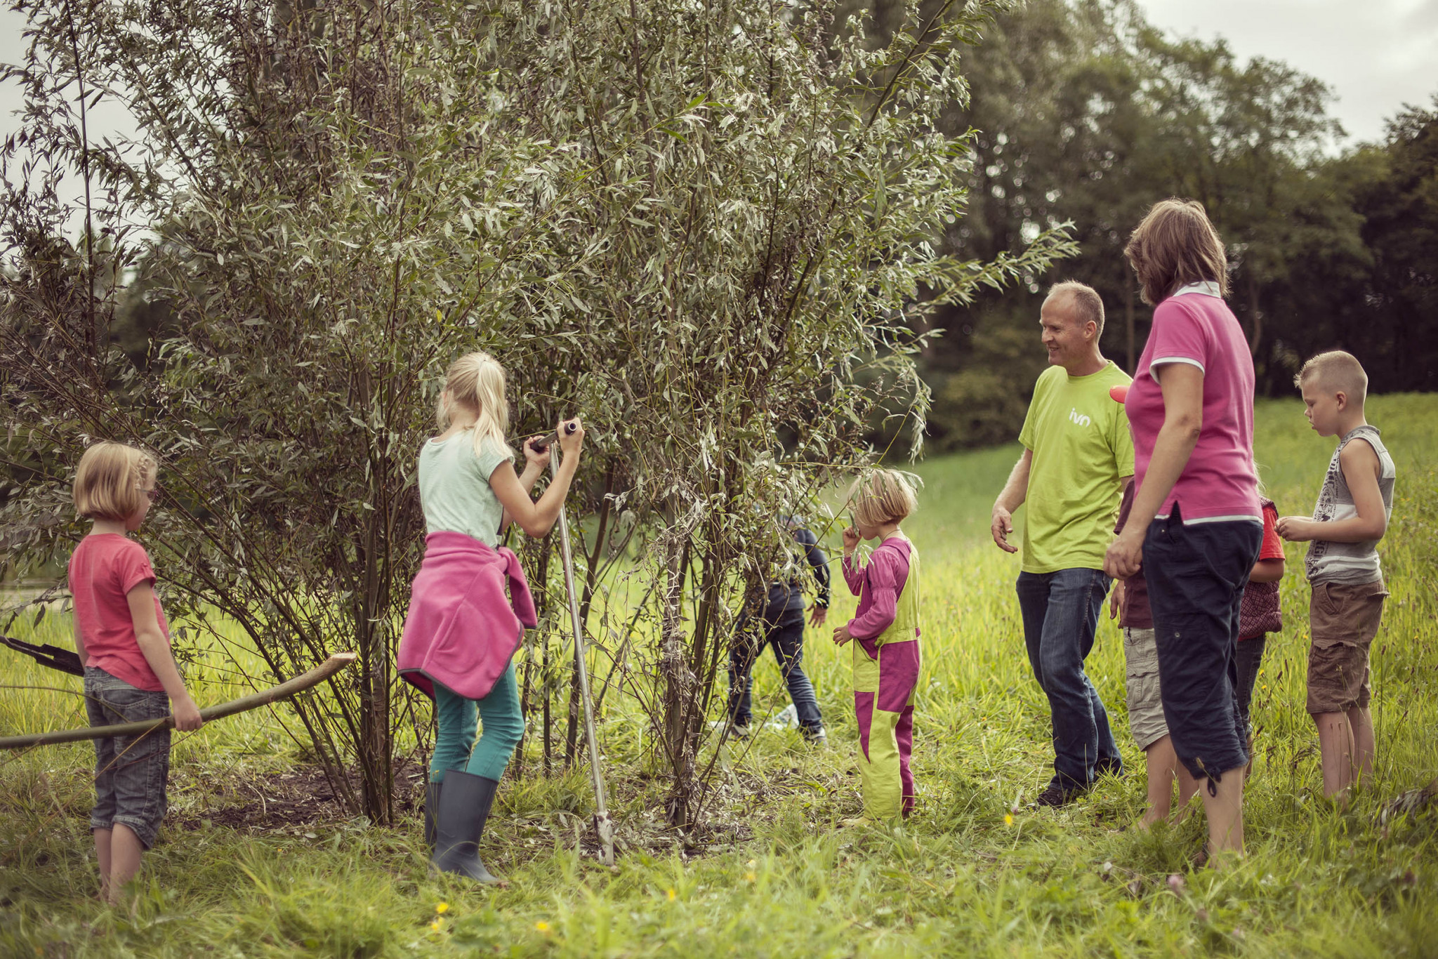
[[[1179,286],[1212,280],[1228,296],[1228,256],[1218,230],[1198,200],[1169,197],[1149,207],[1123,247],[1143,288],[1143,302],[1158,306]]]

